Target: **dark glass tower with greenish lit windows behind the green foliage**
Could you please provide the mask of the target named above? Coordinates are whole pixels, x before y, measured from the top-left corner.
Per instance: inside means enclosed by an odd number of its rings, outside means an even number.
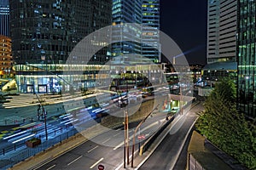
[[[256,117],[256,1],[238,1],[238,108]]]

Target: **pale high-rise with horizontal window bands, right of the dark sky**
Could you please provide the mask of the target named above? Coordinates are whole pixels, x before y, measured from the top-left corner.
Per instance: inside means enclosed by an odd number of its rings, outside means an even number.
[[[207,64],[236,61],[236,0],[208,0]]]

